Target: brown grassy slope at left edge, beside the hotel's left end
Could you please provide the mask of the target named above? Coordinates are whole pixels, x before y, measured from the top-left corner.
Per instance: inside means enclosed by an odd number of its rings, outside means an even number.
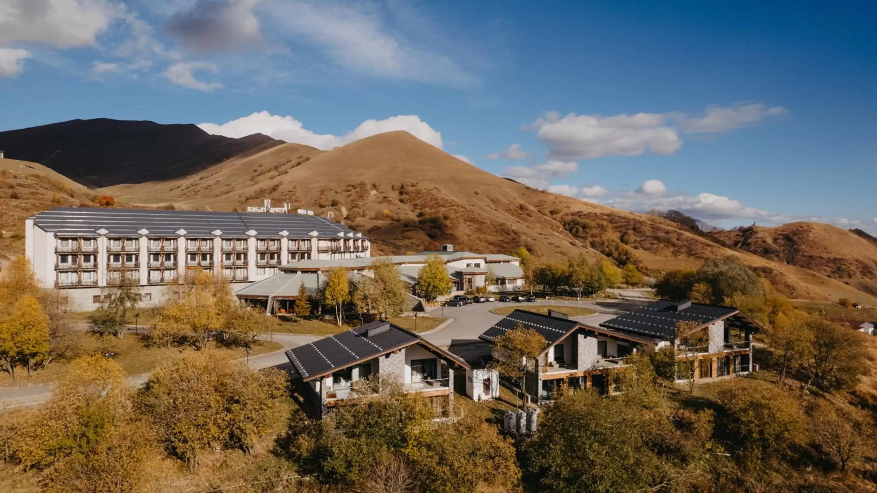
[[[25,218],[61,206],[94,206],[96,195],[35,162],[0,159],[0,266],[25,253]]]

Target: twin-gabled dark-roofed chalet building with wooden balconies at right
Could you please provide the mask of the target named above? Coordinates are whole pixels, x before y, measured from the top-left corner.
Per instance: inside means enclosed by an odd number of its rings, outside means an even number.
[[[627,366],[625,356],[666,346],[674,347],[682,363],[679,382],[745,374],[752,367],[752,333],[760,330],[736,308],[661,300],[598,326],[557,311],[542,315],[516,310],[479,338],[493,343],[519,325],[539,332],[547,342],[524,378],[524,392],[536,404],[553,400],[563,385],[612,394],[619,389],[617,370]],[[685,333],[680,333],[681,326]]]

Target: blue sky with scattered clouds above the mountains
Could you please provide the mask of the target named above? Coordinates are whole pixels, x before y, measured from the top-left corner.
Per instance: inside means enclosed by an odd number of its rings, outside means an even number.
[[[601,204],[877,233],[874,25],[864,2],[3,0],[0,130],[408,130]]]

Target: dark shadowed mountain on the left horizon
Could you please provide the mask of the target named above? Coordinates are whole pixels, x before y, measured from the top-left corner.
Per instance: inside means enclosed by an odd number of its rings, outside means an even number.
[[[7,157],[39,162],[96,187],[179,178],[279,144],[282,141],[262,134],[230,139],[196,125],[109,118],[0,132],[0,149]]]

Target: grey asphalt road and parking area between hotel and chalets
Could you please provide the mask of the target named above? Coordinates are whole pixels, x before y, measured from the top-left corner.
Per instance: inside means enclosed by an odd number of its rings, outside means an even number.
[[[489,354],[490,350],[486,343],[478,339],[479,334],[488,329],[491,325],[496,324],[498,320],[503,318],[502,315],[496,315],[490,310],[500,306],[514,305],[526,310],[528,306],[538,304],[551,304],[561,306],[581,306],[597,311],[594,315],[587,317],[576,317],[574,319],[588,325],[598,325],[610,318],[616,317],[624,311],[629,311],[634,306],[641,304],[640,300],[617,302],[613,300],[606,301],[563,301],[563,300],[539,300],[537,303],[485,303],[485,304],[467,304],[459,307],[444,307],[431,311],[430,315],[434,317],[453,318],[450,324],[433,330],[424,332],[424,339],[439,347],[449,348],[454,354],[466,360],[472,360],[481,354]],[[274,353],[260,354],[253,356],[247,360],[247,364],[251,368],[285,368],[289,366],[289,360],[286,357],[286,350],[308,344],[321,336],[300,335],[300,334],[265,334],[263,339],[273,339],[283,345],[281,350]],[[143,385],[149,379],[149,374],[132,375],[127,378],[128,382],[135,387]],[[33,406],[46,402],[52,397],[53,385],[50,383],[28,385],[25,387],[4,387],[0,388],[0,411],[21,406]]]

